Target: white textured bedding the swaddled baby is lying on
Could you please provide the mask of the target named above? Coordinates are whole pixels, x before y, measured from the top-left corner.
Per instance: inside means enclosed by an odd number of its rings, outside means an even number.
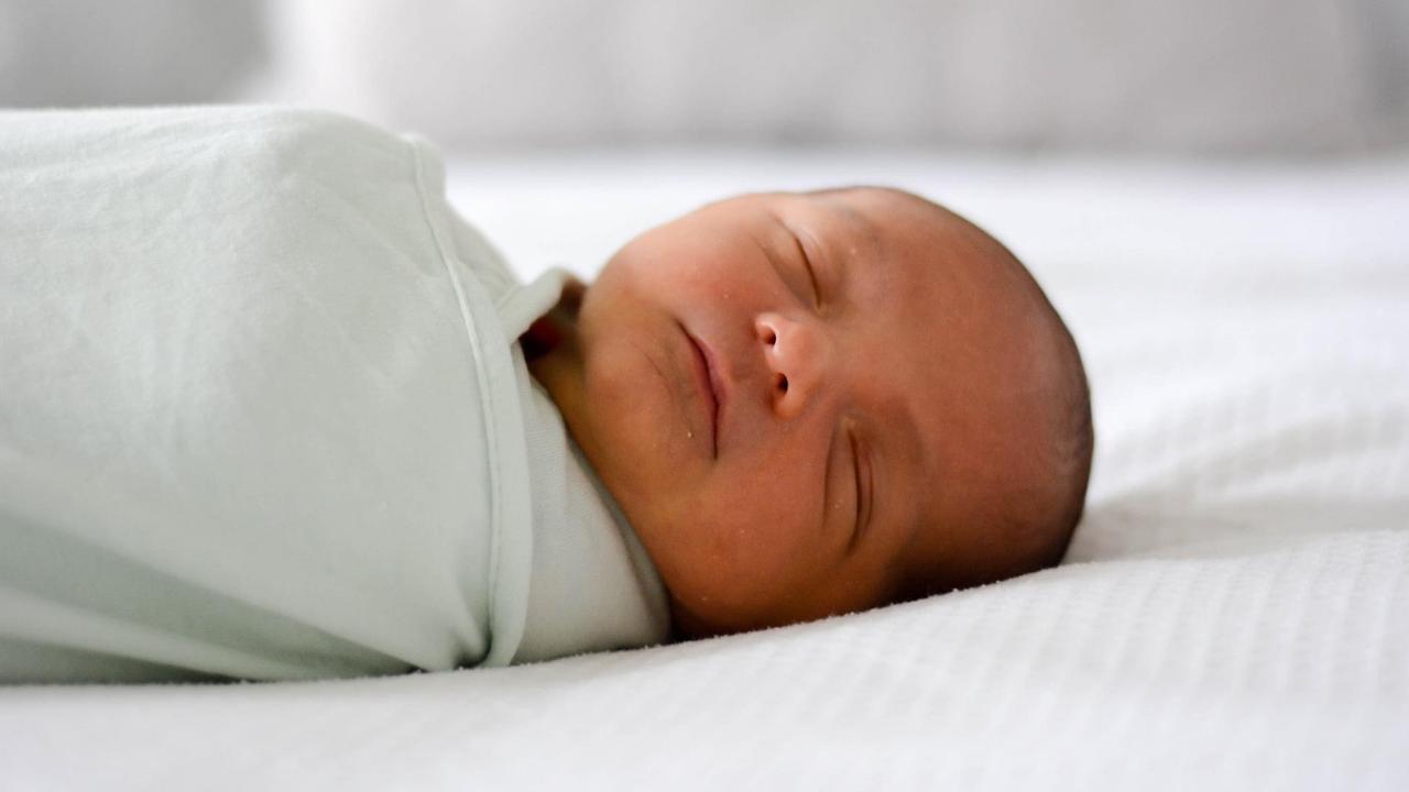
[[[1024,256],[1096,404],[1067,562],[510,669],[0,691],[0,788],[1409,788],[1409,158],[461,161],[526,275],[741,189],[888,182]]]

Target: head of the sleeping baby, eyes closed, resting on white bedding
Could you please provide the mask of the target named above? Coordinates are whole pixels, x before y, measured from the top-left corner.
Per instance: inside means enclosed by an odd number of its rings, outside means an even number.
[[[750,194],[647,231],[586,289],[573,347],[545,383],[682,636],[1043,569],[1081,517],[1067,327],[917,196]]]

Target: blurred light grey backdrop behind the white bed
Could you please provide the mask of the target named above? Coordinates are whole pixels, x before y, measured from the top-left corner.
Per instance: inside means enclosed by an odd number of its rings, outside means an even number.
[[[1358,155],[1409,141],[1409,1],[0,0],[0,106],[204,101],[476,152]]]

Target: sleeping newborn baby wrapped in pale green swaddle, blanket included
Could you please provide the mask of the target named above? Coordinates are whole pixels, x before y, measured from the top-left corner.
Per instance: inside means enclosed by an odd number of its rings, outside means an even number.
[[[0,113],[0,681],[507,665],[1061,559],[1081,358],[974,224],[748,194],[524,285],[442,180],[324,113]]]

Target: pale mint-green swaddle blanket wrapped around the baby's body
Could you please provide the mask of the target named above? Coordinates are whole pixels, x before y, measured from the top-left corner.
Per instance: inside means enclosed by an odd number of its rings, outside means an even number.
[[[659,641],[426,144],[0,114],[0,679],[311,678]]]

